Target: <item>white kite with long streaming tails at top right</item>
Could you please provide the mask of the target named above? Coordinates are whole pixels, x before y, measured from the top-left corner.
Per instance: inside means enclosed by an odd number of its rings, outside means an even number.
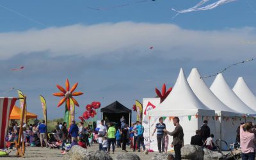
[[[196,4],[195,6],[191,7],[191,8],[188,8],[186,10],[180,10],[180,11],[177,11],[175,9],[172,8],[172,10],[174,10],[175,12],[178,12],[174,17],[173,19],[179,15],[179,13],[188,13],[188,12],[194,12],[194,11],[202,11],[202,10],[211,10],[213,8],[216,8],[218,6],[221,6],[223,4],[226,4],[226,3],[230,3],[230,2],[233,2],[233,1],[236,1],[236,0],[218,0],[216,1],[215,3],[212,3],[212,4],[209,4],[207,6],[202,6],[203,4],[207,3],[208,1],[210,0],[202,0],[200,1],[200,3]],[[200,7],[202,6],[202,7]]]

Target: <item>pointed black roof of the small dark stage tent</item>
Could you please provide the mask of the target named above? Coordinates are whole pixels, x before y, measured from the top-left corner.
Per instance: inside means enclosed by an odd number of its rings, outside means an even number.
[[[131,113],[132,110],[126,108],[123,104],[118,102],[117,100],[108,106],[100,109],[100,112],[104,113]]]

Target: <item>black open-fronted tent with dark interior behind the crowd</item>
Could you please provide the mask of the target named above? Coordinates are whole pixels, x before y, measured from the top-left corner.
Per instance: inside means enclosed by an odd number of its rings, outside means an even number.
[[[121,125],[120,119],[122,116],[124,116],[126,123],[129,124],[129,126],[131,125],[132,110],[126,108],[117,100],[100,109],[100,112],[102,112],[102,118],[104,118],[104,120],[106,120],[107,117],[109,122],[118,123],[119,127]]]

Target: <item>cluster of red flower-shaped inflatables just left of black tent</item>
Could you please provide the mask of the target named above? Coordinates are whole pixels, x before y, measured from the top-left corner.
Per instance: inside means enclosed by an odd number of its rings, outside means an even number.
[[[97,115],[95,109],[100,108],[100,102],[92,102],[92,104],[87,104],[85,106],[86,111],[84,111],[83,116],[79,116],[80,120],[88,120],[89,118],[94,118]]]

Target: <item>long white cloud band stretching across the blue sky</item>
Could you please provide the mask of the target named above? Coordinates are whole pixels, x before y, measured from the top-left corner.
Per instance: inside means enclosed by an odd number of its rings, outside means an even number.
[[[0,33],[0,60],[41,51],[51,56],[97,56],[118,53],[157,54],[164,59],[238,60],[255,56],[255,29],[193,31],[173,24],[118,22],[76,24],[42,30]],[[244,43],[246,42],[246,43]],[[154,46],[153,50],[149,47]]]

